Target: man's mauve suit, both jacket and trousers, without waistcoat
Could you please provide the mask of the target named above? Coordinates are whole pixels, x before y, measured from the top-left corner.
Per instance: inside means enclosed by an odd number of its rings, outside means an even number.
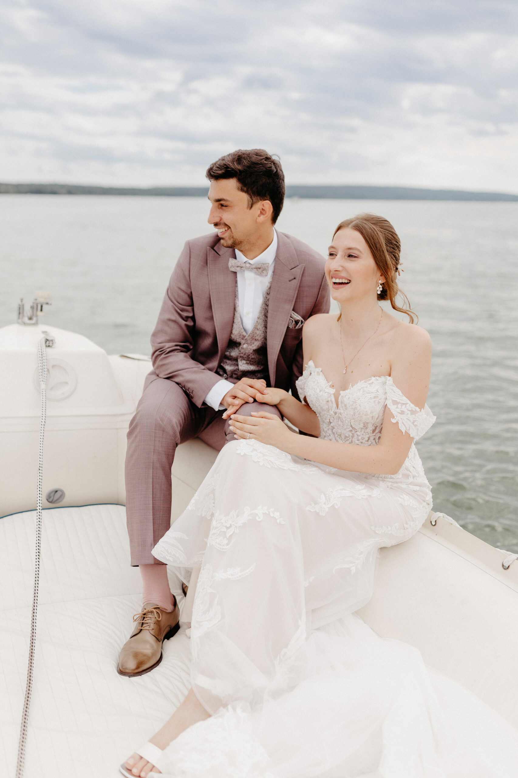
[[[291,388],[297,396],[296,379],[303,370],[300,322],[329,312],[329,287],[317,251],[291,235],[277,232],[277,237],[266,339],[269,384]],[[170,527],[177,446],[199,437],[220,450],[233,439],[222,411],[206,407],[204,399],[221,380],[216,371],[232,334],[236,273],[229,270],[229,259],[235,257],[215,234],[187,240],[166,289],[151,336],[153,370],[128,432],[132,565],[161,564],[151,550]],[[241,406],[240,414],[254,410],[280,416],[271,405],[251,402]]]

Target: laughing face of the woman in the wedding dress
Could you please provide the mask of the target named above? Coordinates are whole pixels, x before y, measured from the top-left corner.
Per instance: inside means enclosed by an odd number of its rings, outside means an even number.
[[[365,240],[351,227],[338,230],[329,247],[325,267],[331,297],[337,303],[373,298],[385,279]]]

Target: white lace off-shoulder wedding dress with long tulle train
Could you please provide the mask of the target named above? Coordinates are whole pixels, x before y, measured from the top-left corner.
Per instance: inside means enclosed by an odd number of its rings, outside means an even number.
[[[327,440],[377,443],[386,407],[414,439],[435,421],[390,377],[341,392],[338,407],[312,362],[297,387]],[[413,444],[397,475],[227,444],[153,550],[187,583],[201,566],[191,682],[214,714],[157,767],[185,778],[518,774],[512,727],[354,614],[373,594],[378,549],[410,538],[431,506]]]

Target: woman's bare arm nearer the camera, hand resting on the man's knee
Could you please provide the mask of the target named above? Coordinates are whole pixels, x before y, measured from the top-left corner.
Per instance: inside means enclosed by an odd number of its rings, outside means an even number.
[[[431,354],[428,333],[422,328],[408,325],[391,359],[390,374],[394,385],[418,408],[424,407],[428,394]],[[380,442],[375,446],[294,435],[276,417],[267,418],[271,414],[259,414],[247,419],[248,424],[236,422],[235,426],[240,437],[247,437],[250,433],[256,440],[287,451],[288,454],[327,464],[332,468],[394,475],[401,470],[414,439],[392,423],[393,415],[386,408]]]

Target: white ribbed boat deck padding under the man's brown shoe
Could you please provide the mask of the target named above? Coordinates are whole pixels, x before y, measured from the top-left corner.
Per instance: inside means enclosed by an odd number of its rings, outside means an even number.
[[[124,506],[45,510],[25,778],[109,778],[189,685],[184,628],[141,678],[117,675],[140,576]],[[0,519],[0,764],[14,776],[26,684],[36,512]],[[174,589],[178,589],[171,581]],[[178,601],[183,601],[176,591]]]

